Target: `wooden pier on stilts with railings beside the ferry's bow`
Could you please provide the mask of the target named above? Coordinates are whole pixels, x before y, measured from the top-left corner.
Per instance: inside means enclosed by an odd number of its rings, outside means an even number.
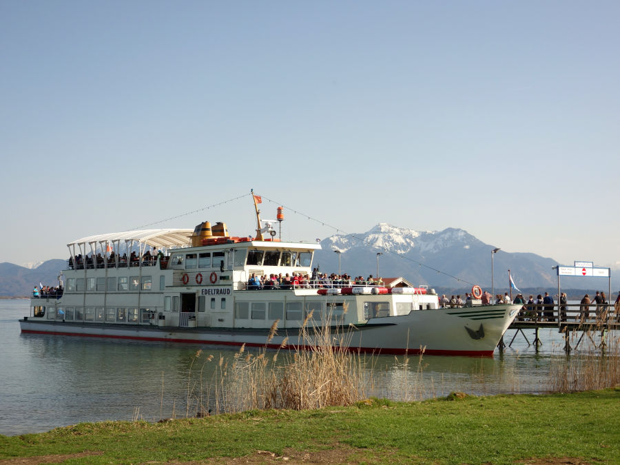
[[[553,304],[553,305],[534,305],[533,309],[524,307],[519,315],[510,324],[508,329],[516,329],[515,335],[506,346],[504,337],[499,340],[500,350],[511,347],[515,339],[520,334],[528,343],[537,350],[541,346],[540,329],[557,329],[563,333],[564,351],[570,353],[579,348],[579,344],[585,337],[589,338],[595,346],[600,347],[606,344],[605,338],[609,331],[620,330],[620,307],[614,308],[613,304]],[[530,342],[524,329],[534,329],[533,341]],[[574,346],[570,344],[572,334],[581,333]],[[600,334],[600,342],[597,344],[592,335]]]

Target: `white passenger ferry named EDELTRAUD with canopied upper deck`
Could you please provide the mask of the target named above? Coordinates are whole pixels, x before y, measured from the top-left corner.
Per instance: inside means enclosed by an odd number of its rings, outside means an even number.
[[[260,197],[251,196],[255,237],[229,236],[224,223],[205,222],[193,230],[70,242],[63,293],[33,296],[30,316],[19,320],[22,333],[277,348],[285,338],[312,345],[307,338],[329,327],[346,335],[351,350],[492,356],[521,307],[473,300],[470,307],[440,308],[433,289],[404,278],[383,285],[318,279],[256,285],[253,275],[311,276],[320,245],[278,240],[275,220],[261,222]]]

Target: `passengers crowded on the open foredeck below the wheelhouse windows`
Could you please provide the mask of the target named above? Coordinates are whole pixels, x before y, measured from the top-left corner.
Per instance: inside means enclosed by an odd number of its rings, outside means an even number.
[[[256,273],[252,273],[247,281],[247,289],[333,289],[353,286],[382,286],[383,284],[381,278],[373,278],[373,275],[368,278],[363,276],[351,278],[347,273],[331,273],[328,275],[327,273],[320,273],[315,268],[312,271],[312,276],[295,272],[292,274],[285,273],[284,275],[282,273],[271,273],[269,276],[256,276]]]

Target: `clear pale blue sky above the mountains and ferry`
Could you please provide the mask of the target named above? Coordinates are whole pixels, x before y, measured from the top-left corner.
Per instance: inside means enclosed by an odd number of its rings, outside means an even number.
[[[1,1],[0,262],[254,188],[348,233],[613,265],[619,24],[618,1]]]

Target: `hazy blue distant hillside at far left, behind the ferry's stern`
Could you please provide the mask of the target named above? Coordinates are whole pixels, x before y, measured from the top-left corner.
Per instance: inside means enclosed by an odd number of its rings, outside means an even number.
[[[65,260],[48,260],[37,268],[0,263],[0,296],[30,296],[34,286],[58,285],[58,273],[67,267]]]

